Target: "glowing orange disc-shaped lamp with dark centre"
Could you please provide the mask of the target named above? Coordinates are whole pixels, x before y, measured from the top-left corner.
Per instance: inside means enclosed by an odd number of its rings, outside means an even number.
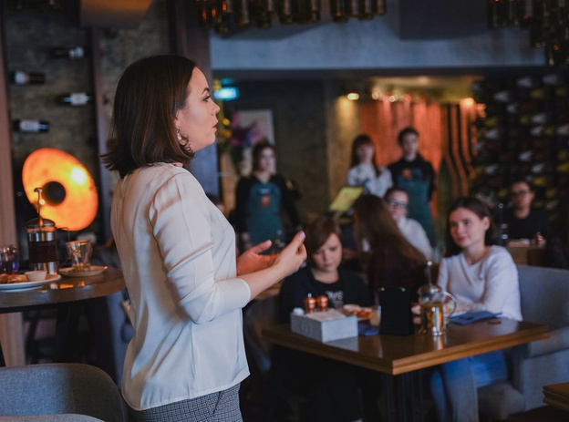
[[[41,216],[70,231],[85,229],[97,215],[98,195],[88,170],[60,149],[42,148],[24,162],[22,181],[27,200],[37,209],[36,188],[42,188]]]

